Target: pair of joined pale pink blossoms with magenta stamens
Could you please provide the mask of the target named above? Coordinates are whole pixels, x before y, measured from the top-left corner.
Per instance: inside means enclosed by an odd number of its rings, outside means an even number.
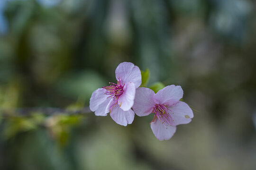
[[[193,118],[191,108],[180,99],[181,86],[168,85],[155,93],[141,85],[140,69],[130,62],[120,63],[116,68],[117,83],[110,83],[95,90],[90,99],[90,109],[96,116],[110,117],[119,125],[131,124],[134,115],[154,114],[151,129],[160,141],[170,139],[176,126],[187,124]]]

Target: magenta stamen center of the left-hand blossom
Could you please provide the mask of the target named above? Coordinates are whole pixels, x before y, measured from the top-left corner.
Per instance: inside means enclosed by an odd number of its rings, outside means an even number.
[[[110,95],[108,96],[108,98],[115,98],[115,103],[114,105],[116,105],[118,103],[118,100],[119,100],[119,97],[123,94],[124,92],[124,84],[122,85],[121,84],[121,80],[119,79],[117,81],[117,84],[115,83],[110,83],[111,85],[109,86],[105,86],[105,87],[102,87],[106,90],[108,90],[107,95]]]

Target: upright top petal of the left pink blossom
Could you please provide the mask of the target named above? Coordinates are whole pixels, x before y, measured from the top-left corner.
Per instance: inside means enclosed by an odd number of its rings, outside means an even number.
[[[130,62],[122,62],[116,69],[116,78],[121,80],[121,83],[134,83],[135,88],[141,85],[141,73],[137,66]]]

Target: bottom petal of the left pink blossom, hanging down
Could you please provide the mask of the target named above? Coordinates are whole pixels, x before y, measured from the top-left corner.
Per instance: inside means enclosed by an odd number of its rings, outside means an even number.
[[[110,111],[110,116],[117,124],[127,126],[127,124],[132,123],[134,119],[134,112],[131,109],[124,111],[116,105],[116,107]]]

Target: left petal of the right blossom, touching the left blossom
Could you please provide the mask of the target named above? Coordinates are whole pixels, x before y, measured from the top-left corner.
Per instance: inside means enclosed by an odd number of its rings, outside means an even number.
[[[153,90],[145,87],[136,89],[133,110],[138,116],[147,116],[152,113],[155,106],[154,102],[155,93]]]

